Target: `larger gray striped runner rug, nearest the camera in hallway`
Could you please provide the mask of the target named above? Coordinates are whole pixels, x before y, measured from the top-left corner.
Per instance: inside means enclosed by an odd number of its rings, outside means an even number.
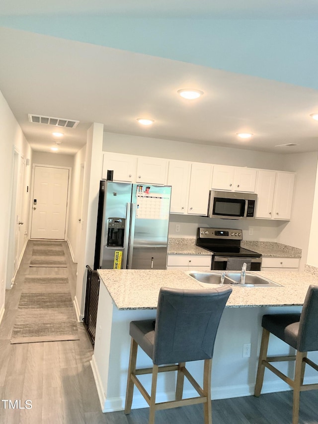
[[[78,339],[68,278],[25,277],[11,344]]]

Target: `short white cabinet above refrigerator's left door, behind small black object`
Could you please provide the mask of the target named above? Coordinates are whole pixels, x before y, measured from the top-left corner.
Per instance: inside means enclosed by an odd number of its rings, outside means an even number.
[[[107,178],[107,170],[114,171],[114,181],[136,181],[137,156],[121,153],[104,153],[102,179]]]

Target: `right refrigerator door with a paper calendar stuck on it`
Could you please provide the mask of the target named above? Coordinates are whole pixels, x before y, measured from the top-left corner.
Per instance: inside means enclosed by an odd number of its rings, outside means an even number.
[[[171,187],[133,185],[128,268],[165,269]]]

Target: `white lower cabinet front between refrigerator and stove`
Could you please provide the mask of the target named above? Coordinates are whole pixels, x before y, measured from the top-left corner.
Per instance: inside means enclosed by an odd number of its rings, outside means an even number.
[[[210,271],[211,255],[201,254],[168,254],[167,269],[183,271]]]

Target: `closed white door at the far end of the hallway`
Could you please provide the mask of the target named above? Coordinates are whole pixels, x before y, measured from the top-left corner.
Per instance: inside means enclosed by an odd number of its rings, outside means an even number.
[[[34,167],[31,239],[64,240],[69,170]]]

